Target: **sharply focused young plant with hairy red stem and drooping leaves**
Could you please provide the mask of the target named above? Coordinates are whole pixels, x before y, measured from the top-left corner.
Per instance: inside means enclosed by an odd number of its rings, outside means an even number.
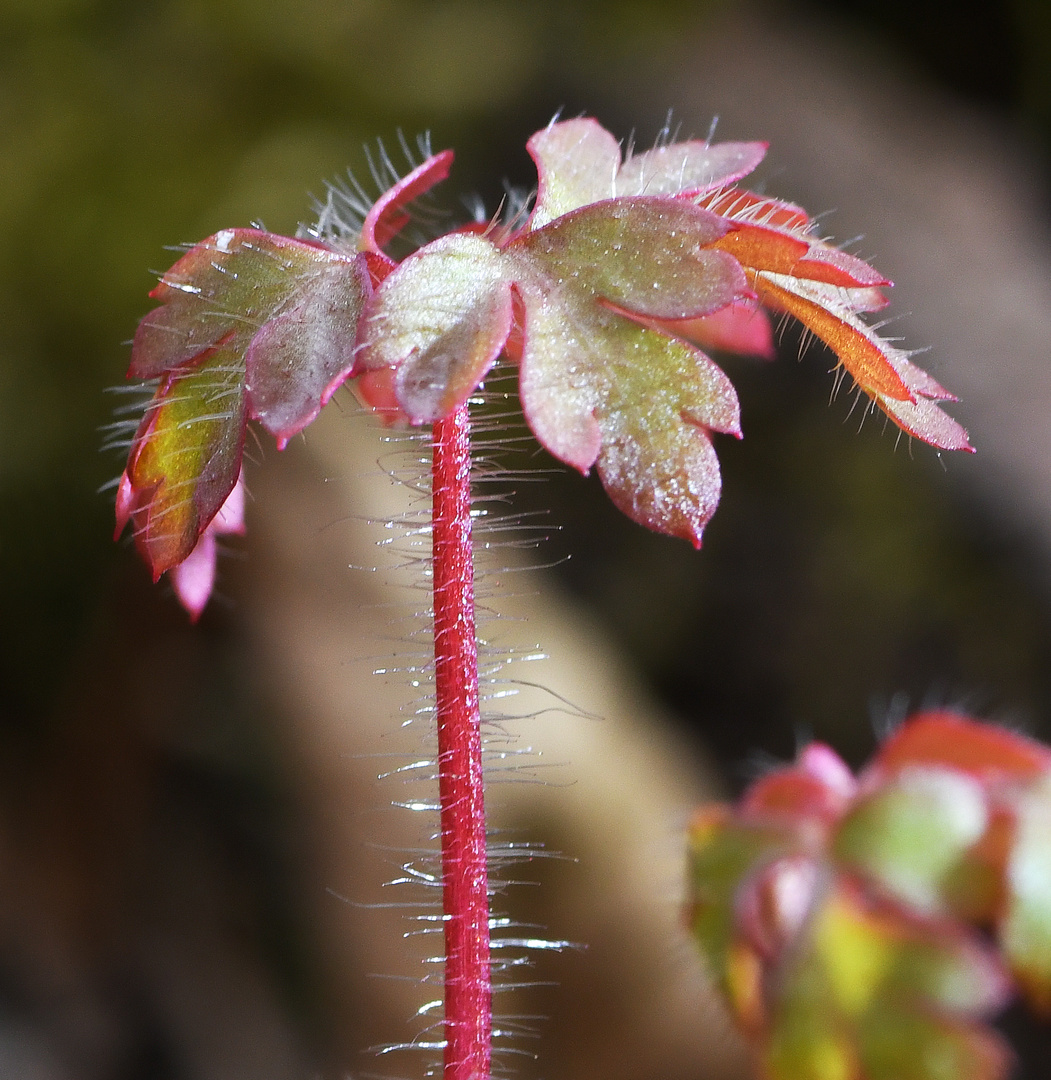
[[[248,420],[284,446],[347,380],[388,423],[433,432],[434,670],[446,1080],[489,1074],[485,812],[471,539],[470,401],[501,355],[539,442],[649,528],[700,546],[720,491],[712,433],[740,437],[733,387],[702,351],[769,353],[766,311],[799,320],[899,428],[970,449],[952,400],[863,320],[889,285],[805,211],[738,187],[760,143],[662,143],[622,159],[594,120],[529,139],[531,208],[470,221],[396,260],[430,156],[359,222],[297,238],[227,229],[150,294],[129,376],[156,380],[117,496],[154,579],[192,617],[215,537],[243,527]]]

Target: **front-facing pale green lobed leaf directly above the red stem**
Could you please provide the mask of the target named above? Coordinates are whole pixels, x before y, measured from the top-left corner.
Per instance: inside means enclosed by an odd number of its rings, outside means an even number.
[[[644,322],[718,311],[749,288],[710,245],[728,226],[690,203],[637,197],[564,214],[498,246],[442,238],[405,259],[366,308],[360,369],[396,368],[417,423],[447,415],[503,349],[521,306],[520,394],[557,458],[597,465],[614,501],[700,542],[719,492],[710,430],[739,434],[729,380]]]

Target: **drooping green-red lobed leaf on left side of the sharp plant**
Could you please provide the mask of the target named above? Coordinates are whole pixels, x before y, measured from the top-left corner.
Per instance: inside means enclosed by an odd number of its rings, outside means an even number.
[[[159,384],[118,495],[154,578],[232,491],[246,420],[284,446],[346,378],[369,287],[364,256],[258,229],[210,237],[161,279],[129,368]]]

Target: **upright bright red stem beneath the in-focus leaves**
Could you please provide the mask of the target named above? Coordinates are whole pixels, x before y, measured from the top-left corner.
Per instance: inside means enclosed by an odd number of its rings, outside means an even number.
[[[444,1080],[488,1080],[493,991],[467,405],[434,424],[433,442],[434,681],[445,913]]]

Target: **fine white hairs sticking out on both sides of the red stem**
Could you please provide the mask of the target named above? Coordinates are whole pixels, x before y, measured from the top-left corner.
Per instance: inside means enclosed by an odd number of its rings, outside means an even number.
[[[472,397],[472,526],[475,551],[475,611],[479,647],[480,704],[482,710],[483,769],[487,802],[494,785],[503,783],[545,783],[543,773],[551,765],[533,748],[523,745],[512,730],[522,720],[541,712],[561,711],[581,717],[591,714],[577,708],[558,694],[548,693],[541,707],[515,710],[523,689],[536,691],[538,683],[523,679],[523,664],[544,660],[539,645],[509,648],[500,642],[499,600],[507,597],[507,582],[523,569],[512,553],[535,549],[549,526],[544,515],[518,513],[510,509],[512,487],[516,483],[536,483],[544,470],[517,468],[516,455],[528,454],[535,441],[521,420],[514,392],[515,373],[497,367],[484,388]],[[422,821],[429,843],[416,848],[382,849],[391,859],[393,873],[386,888],[399,899],[385,903],[404,912],[407,929],[403,940],[439,944],[445,916],[441,907],[442,869],[437,847],[437,762],[435,758],[435,710],[433,702],[433,656],[431,631],[431,552],[430,552],[430,455],[429,433],[414,430],[387,431],[387,446],[378,459],[382,473],[408,496],[408,509],[386,521],[372,518],[380,530],[377,541],[383,563],[382,572],[396,583],[405,599],[388,604],[383,618],[391,626],[393,657],[373,666],[377,676],[405,679],[412,700],[405,705],[402,726],[419,731],[420,745],[409,756],[395,755],[379,771],[385,783],[395,782],[401,791],[390,799],[400,810],[425,815]],[[359,568],[376,572],[379,567]],[[421,597],[422,594],[422,597]],[[426,597],[426,599],[423,599]],[[407,785],[407,791],[406,791]],[[498,801],[498,796],[496,798]],[[488,828],[489,896],[506,899],[513,907],[513,891],[518,886],[535,885],[521,868],[540,858],[560,858],[541,842],[523,839],[516,833]],[[404,899],[403,899],[404,897]],[[524,922],[499,909],[490,912],[493,991],[497,1002],[514,990],[547,985],[531,974],[537,955],[577,947],[572,942],[549,936],[543,927]],[[429,990],[410,1017],[419,1026],[404,1040],[383,1043],[374,1052],[388,1057],[406,1051],[425,1055],[425,1075],[441,1071],[444,1049],[442,999],[435,989],[442,986],[444,956],[441,949],[427,950],[419,963],[417,982]],[[393,976],[402,977],[402,976]],[[534,1056],[523,1045],[537,1037],[536,1025],[542,1017],[508,1014],[496,1009],[493,1028],[493,1072],[513,1071],[512,1063],[522,1055]]]

